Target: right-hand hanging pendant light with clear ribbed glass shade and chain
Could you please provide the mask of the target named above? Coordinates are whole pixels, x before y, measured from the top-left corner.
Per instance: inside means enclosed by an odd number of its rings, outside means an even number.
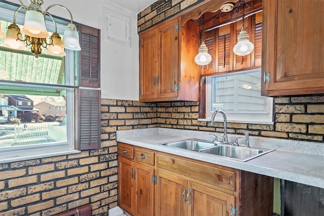
[[[252,53],[254,45],[249,40],[249,34],[244,30],[244,6],[245,1],[242,0],[240,4],[243,5],[243,16],[242,16],[242,29],[237,36],[237,44],[233,48],[233,52],[236,56],[246,56]],[[238,10],[238,9],[237,9]]]

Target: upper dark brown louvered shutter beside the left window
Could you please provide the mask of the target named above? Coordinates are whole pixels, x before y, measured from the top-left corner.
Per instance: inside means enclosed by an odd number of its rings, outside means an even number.
[[[100,29],[79,25],[79,86],[100,87]]]

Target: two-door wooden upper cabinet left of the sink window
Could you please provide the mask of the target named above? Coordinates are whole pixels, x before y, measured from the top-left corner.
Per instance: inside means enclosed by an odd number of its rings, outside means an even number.
[[[141,102],[198,100],[197,66],[190,67],[194,63],[191,39],[196,38],[192,31],[197,27],[191,29],[185,25],[180,29],[179,19],[164,22],[139,35]],[[180,35],[185,40],[181,40]],[[196,44],[193,47],[196,48]],[[186,53],[182,55],[183,52]],[[187,58],[192,58],[191,63],[185,61]]]

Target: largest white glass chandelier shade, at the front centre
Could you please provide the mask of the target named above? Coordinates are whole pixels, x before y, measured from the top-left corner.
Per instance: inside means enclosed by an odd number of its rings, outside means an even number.
[[[26,12],[25,23],[21,32],[32,37],[45,38],[50,36],[45,27],[44,15],[37,11]]]

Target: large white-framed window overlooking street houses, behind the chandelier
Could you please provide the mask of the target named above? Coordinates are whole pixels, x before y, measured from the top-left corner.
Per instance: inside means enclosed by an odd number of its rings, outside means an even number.
[[[14,10],[1,8],[0,22],[5,34]],[[16,24],[20,27],[23,17],[24,14],[17,14]],[[66,23],[55,19],[57,31],[63,36]],[[47,21],[46,26],[54,31],[53,22]],[[0,163],[78,152],[74,150],[74,73],[78,53],[65,50],[65,57],[55,57],[44,54],[44,49],[35,58],[29,51],[3,47],[4,39],[0,38],[0,95],[7,99],[23,96],[29,102],[19,101],[21,107],[16,107],[11,100],[1,103],[3,114],[8,115],[10,122],[0,125]],[[65,106],[59,115],[43,105],[57,101],[63,101]]]

